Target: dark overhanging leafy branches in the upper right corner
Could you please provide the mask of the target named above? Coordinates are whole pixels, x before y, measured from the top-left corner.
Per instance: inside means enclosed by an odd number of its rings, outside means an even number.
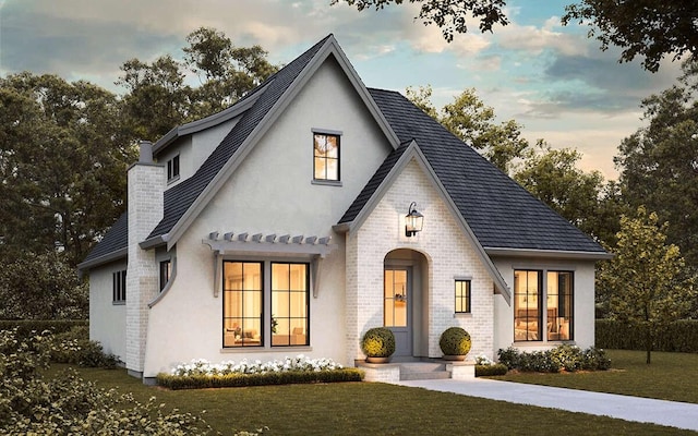
[[[686,0],[583,0],[565,8],[563,24],[588,24],[589,37],[623,48],[622,62],[645,57],[645,69],[655,72],[662,58],[694,56],[698,49],[698,2]]]

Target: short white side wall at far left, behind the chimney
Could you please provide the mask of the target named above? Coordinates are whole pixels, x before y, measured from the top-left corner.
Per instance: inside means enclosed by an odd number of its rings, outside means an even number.
[[[112,274],[125,269],[123,261],[89,270],[89,339],[122,361],[127,353],[127,305],[113,303]]]

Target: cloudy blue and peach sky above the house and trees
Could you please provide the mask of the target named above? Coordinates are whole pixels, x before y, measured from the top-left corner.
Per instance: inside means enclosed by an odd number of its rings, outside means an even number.
[[[659,73],[618,64],[587,28],[563,27],[571,0],[508,0],[510,24],[447,44],[414,20],[413,5],[363,11],[330,0],[0,0],[0,74],[24,70],[113,85],[132,58],[182,57],[200,26],[222,31],[237,46],[258,44],[286,63],[335,34],[366,86],[405,92],[431,85],[437,107],[474,87],[498,119],[524,124],[531,142],[583,154],[580,167],[617,177],[613,156],[642,125],[640,102],[670,87],[679,64]]]

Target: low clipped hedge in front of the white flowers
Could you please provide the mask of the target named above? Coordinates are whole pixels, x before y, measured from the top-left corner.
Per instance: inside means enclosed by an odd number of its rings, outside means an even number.
[[[157,384],[169,389],[230,388],[265,385],[309,383],[361,382],[363,372],[358,368],[332,371],[291,371],[285,373],[225,374],[179,376],[160,373]]]

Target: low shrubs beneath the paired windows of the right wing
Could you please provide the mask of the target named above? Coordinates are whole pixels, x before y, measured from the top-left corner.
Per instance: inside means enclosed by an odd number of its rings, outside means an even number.
[[[547,351],[519,352],[509,347],[497,352],[500,363],[509,370],[535,373],[558,373],[561,370],[575,372],[605,371],[611,360],[602,349],[591,347],[580,350],[578,347],[563,344]]]

